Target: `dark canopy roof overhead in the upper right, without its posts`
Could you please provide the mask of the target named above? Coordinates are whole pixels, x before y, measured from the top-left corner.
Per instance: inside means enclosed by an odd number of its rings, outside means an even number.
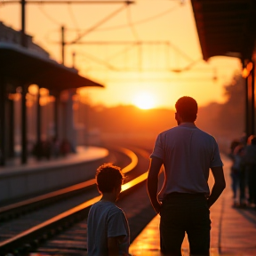
[[[255,0],[191,0],[204,60],[251,60],[256,38]]]

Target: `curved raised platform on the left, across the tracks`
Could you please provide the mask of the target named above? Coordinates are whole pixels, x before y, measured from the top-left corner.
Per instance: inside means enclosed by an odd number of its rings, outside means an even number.
[[[99,147],[77,147],[76,153],[39,161],[30,156],[27,164],[20,164],[20,158],[14,157],[0,167],[0,205],[92,179],[95,171],[90,170],[96,170],[107,157],[108,149]]]

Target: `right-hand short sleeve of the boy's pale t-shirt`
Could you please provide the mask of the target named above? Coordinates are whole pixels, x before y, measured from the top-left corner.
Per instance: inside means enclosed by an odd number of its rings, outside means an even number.
[[[115,212],[108,219],[108,237],[128,236],[124,212]]]

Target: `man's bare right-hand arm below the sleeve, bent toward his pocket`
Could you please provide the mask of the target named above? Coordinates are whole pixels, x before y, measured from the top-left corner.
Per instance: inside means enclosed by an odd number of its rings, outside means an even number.
[[[207,204],[208,207],[210,208],[212,204],[215,203],[215,201],[219,198],[220,194],[226,188],[226,181],[224,177],[224,172],[222,166],[220,167],[212,167],[212,174],[214,177],[214,185],[212,188],[212,193],[208,198]]]

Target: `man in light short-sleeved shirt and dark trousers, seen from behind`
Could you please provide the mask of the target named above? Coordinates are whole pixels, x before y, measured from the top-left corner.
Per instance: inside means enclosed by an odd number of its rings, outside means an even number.
[[[210,211],[226,187],[216,140],[195,125],[197,103],[182,97],[176,104],[178,126],[162,132],[150,156],[148,196],[161,215],[160,244],[163,255],[181,255],[188,235],[190,255],[209,255]],[[158,175],[164,164],[164,186],[157,196]],[[209,169],[214,186],[210,195]]]

